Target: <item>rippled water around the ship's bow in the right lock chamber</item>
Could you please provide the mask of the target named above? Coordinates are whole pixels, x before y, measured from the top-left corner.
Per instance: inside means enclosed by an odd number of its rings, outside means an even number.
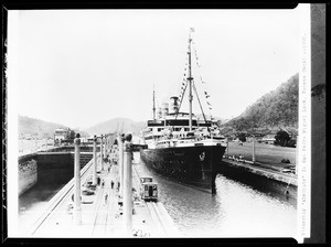
[[[265,186],[256,189],[218,174],[212,195],[160,178],[143,165],[138,168],[158,182],[160,202],[184,237],[296,236],[296,200],[267,192],[265,181]]]

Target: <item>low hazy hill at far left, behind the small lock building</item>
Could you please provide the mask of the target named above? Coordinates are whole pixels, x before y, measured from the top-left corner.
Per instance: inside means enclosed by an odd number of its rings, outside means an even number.
[[[30,133],[34,136],[35,133],[38,133],[39,138],[44,138],[45,136],[53,137],[54,130],[57,128],[70,128],[70,127],[44,121],[36,118],[19,116],[19,135]],[[86,132],[82,132],[82,131],[79,131],[79,133],[83,137],[87,135]]]

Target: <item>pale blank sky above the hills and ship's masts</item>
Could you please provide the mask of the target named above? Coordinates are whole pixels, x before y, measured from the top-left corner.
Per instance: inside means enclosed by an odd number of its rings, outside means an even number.
[[[117,117],[146,121],[153,87],[157,106],[179,95],[192,26],[201,65],[192,61],[193,77],[204,110],[236,117],[299,72],[298,14],[297,9],[9,11],[12,109],[79,129]]]

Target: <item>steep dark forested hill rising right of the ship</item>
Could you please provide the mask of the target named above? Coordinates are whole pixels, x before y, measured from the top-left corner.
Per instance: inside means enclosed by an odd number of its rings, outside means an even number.
[[[237,131],[252,128],[298,128],[299,75],[264,95],[238,117],[226,122]]]

